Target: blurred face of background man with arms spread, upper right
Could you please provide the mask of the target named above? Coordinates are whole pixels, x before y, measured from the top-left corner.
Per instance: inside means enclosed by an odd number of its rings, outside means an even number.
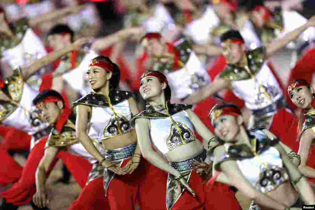
[[[228,64],[237,64],[242,60],[245,54],[245,45],[237,43],[224,43],[223,45],[223,55],[226,57],[226,62]]]

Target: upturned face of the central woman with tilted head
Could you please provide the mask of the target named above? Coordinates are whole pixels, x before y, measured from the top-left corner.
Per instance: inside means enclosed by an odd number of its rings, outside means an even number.
[[[150,100],[160,96],[165,88],[165,82],[161,83],[157,77],[147,76],[142,78],[139,91],[143,99]]]

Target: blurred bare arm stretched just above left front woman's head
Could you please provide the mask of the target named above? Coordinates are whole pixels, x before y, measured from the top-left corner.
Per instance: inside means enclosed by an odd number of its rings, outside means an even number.
[[[138,27],[122,29],[106,37],[96,39],[91,45],[91,49],[100,51],[117,42],[125,41],[132,36],[141,36],[142,33],[143,29]]]

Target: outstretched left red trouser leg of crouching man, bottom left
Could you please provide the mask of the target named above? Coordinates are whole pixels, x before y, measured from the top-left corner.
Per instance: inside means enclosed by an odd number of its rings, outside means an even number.
[[[42,139],[31,150],[27,158],[26,165],[23,168],[21,178],[9,190],[2,193],[2,197],[9,203],[21,206],[29,203],[36,192],[35,172],[37,166],[44,156],[44,146],[47,139]],[[47,176],[56,164],[57,159],[53,162]]]

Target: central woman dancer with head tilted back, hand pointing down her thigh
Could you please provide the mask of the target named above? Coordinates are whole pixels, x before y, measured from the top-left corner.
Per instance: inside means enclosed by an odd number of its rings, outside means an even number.
[[[168,210],[203,209],[203,180],[192,164],[204,162],[206,152],[193,131],[196,128],[206,145],[215,136],[194,114],[191,105],[169,103],[171,90],[162,73],[148,71],[140,81],[140,94],[149,105],[132,122],[135,122],[143,157],[169,173],[167,184],[165,180],[164,185],[158,186],[166,187],[166,207]],[[151,140],[165,158],[153,150]]]

